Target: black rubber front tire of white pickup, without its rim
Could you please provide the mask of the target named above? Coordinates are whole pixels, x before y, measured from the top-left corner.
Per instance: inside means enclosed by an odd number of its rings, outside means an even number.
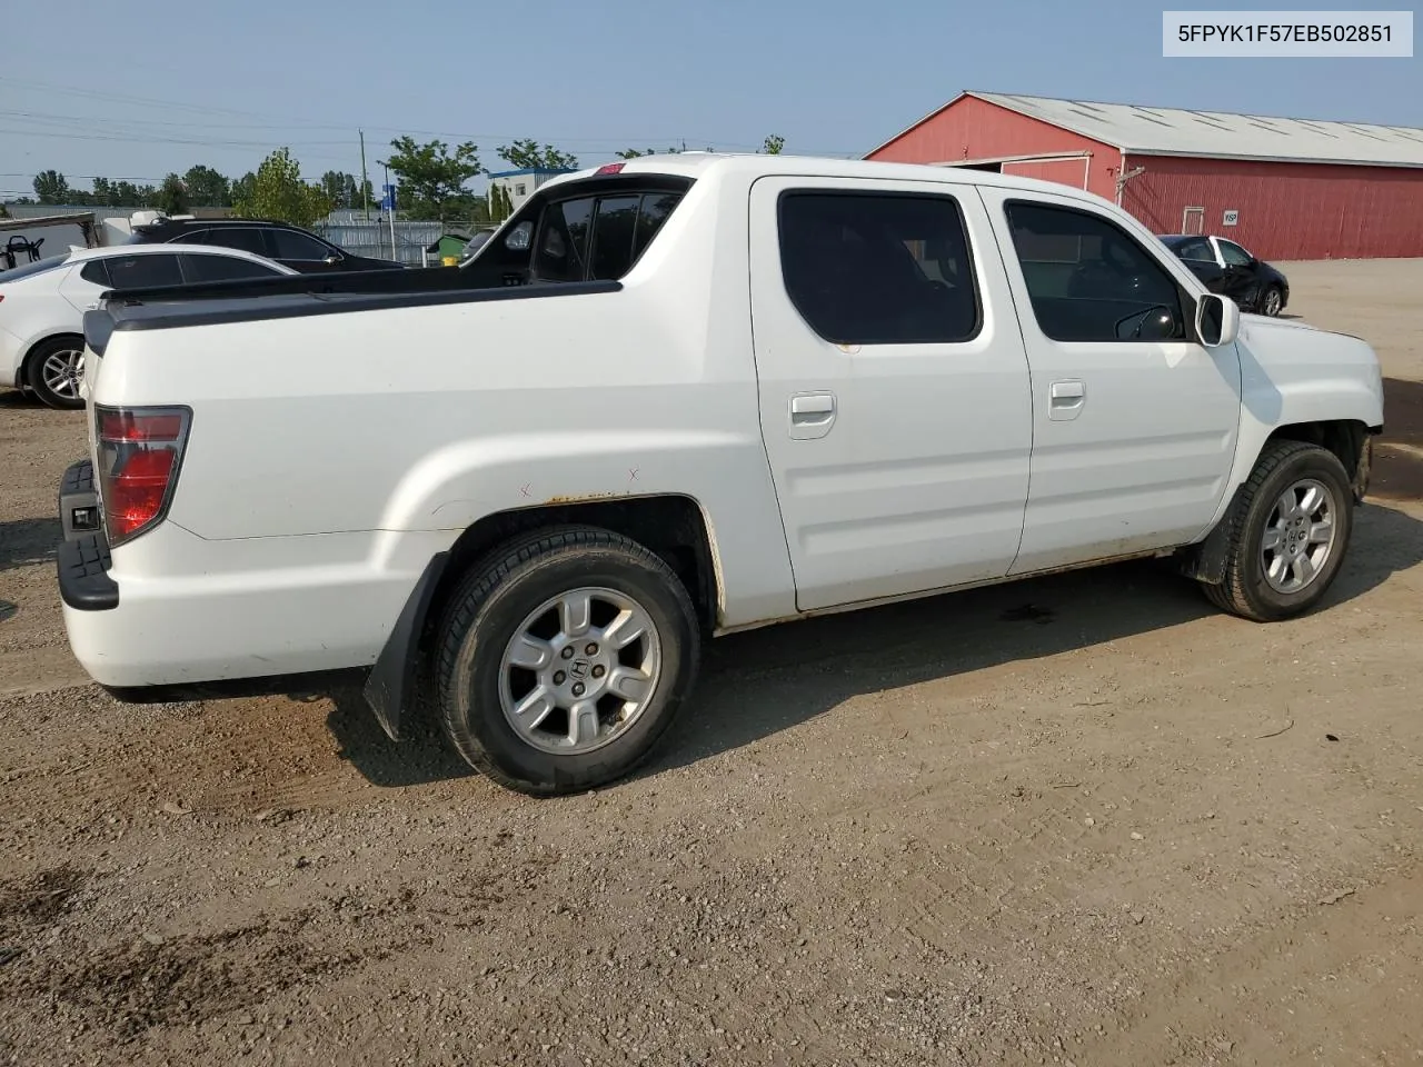
[[[1298,592],[1281,592],[1266,580],[1262,559],[1265,528],[1285,491],[1302,479],[1315,479],[1332,497],[1335,539],[1313,579]],[[1329,592],[1339,573],[1353,531],[1353,491],[1349,475],[1333,452],[1303,441],[1276,441],[1255,461],[1234,508],[1229,524],[1225,580],[1202,583],[1211,603],[1252,622],[1279,622],[1312,609]]]

